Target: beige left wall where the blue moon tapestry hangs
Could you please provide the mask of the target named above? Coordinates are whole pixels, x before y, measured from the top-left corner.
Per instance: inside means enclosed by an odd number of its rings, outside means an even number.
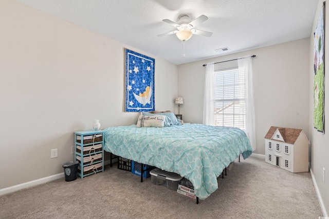
[[[156,110],[174,110],[176,65],[11,0],[0,27],[0,189],[63,173],[73,132],[94,119],[137,122],[124,112],[124,48],[155,58]]]

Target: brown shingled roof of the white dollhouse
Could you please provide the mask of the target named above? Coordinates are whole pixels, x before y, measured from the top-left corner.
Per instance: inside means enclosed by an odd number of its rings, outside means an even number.
[[[267,134],[265,135],[265,138],[271,140],[277,130],[279,130],[284,142],[288,144],[295,144],[300,133],[303,131],[302,129],[271,126],[271,128],[268,130]],[[276,139],[276,141],[278,140]]]

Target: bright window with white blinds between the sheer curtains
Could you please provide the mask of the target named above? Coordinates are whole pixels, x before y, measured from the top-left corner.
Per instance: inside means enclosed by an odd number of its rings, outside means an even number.
[[[215,71],[215,126],[246,128],[245,77],[238,68]]]

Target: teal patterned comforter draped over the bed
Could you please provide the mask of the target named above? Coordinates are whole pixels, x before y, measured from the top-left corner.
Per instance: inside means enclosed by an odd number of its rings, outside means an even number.
[[[104,141],[107,152],[186,177],[200,200],[218,188],[217,177],[239,154],[252,153],[241,129],[200,124],[108,127]]]

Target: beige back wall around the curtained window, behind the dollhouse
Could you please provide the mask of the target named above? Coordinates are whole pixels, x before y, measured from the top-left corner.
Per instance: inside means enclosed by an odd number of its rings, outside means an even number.
[[[202,123],[205,67],[245,55],[252,59],[256,145],[265,154],[264,137],[270,126],[303,129],[308,136],[309,38],[253,49],[178,66],[178,95],[184,121]],[[225,63],[227,65],[227,63]]]

